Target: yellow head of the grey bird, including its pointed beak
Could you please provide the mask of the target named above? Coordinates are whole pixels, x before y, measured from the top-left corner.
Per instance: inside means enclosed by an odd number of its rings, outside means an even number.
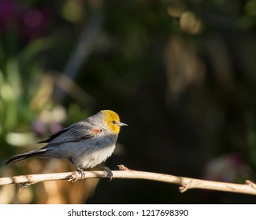
[[[127,126],[127,124],[120,122],[119,116],[116,112],[111,110],[102,110],[101,112],[104,115],[107,126],[113,131],[113,133],[119,134],[120,127]]]

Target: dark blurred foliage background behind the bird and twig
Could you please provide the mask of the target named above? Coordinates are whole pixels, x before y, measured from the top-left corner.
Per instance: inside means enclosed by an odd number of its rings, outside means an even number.
[[[0,177],[74,170],[13,154],[101,109],[117,170],[256,181],[256,0],[0,0]],[[0,203],[255,203],[162,182],[46,181]]]

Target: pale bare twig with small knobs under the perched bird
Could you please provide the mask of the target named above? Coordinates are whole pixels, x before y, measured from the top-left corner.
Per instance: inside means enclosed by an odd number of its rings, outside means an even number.
[[[195,178],[178,177],[168,174],[157,174],[143,171],[130,170],[124,165],[119,166],[121,170],[113,171],[113,178],[145,179],[151,181],[163,181],[180,185],[180,192],[187,189],[210,189],[224,192],[236,192],[256,195],[256,185],[247,180],[245,184],[235,184],[221,181],[206,181]],[[68,180],[76,181],[77,172],[56,174],[32,174],[9,178],[0,178],[0,185],[19,184],[22,189],[39,181]],[[83,178],[107,178],[105,171],[84,171]]]

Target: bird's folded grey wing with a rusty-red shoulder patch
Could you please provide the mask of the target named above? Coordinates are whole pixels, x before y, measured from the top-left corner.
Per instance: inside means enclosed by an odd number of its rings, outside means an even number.
[[[38,143],[50,143],[59,145],[64,142],[82,141],[89,138],[95,138],[101,132],[101,129],[98,129],[91,124],[75,123],[70,127],[66,127],[65,129],[58,131],[55,134],[51,134],[48,139],[39,141]]]

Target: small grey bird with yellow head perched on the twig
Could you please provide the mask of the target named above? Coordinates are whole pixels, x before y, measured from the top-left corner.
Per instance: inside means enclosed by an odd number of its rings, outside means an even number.
[[[120,122],[116,112],[102,110],[51,134],[45,141],[39,141],[38,143],[48,143],[43,148],[10,157],[6,165],[34,156],[65,158],[76,167],[83,178],[83,168],[97,167],[112,155],[120,128],[123,126],[127,124]],[[113,173],[109,167],[100,168],[106,170],[111,180]]]

